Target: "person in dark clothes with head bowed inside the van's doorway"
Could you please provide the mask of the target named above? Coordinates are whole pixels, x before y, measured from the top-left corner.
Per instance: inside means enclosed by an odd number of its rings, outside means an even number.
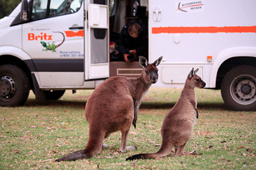
[[[142,23],[130,22],[126,24],[119,35],[117,48],[119,60],[132,62],[138,56],[145,56],[149,47],[148,30]]]

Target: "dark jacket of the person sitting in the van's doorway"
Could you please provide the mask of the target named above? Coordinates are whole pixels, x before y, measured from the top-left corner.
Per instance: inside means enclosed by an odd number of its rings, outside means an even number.
[[[138,38],[132,38],[128,33],[128,28],[130,24],[137,23],[141,26],[141,33]],[[146,51],[148,51],[149,46],[149,38],[148,38],[148,30],[142,23],[138,22],[130,22],[122,28],[122,31],[119,35],[118,42],[118,51],[121,53],[121,57],[123,58],[124,54],[129,50],[135,49],[137,51],[137,56],[144,55]]]

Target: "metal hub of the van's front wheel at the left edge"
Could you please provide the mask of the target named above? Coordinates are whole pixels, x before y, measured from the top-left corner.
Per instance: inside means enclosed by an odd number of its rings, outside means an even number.
[[[11,98],[16,91],[14,80],[9,76],[3,76],[0,79],[0,96]]]

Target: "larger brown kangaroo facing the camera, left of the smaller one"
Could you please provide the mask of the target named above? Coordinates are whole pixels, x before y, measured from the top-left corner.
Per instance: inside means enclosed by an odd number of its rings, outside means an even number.
[[[111,77],[100,84],[89,97],[85,106],[85,117],[89,123],[89,140],[84,150],[76,151],[55,160],[72,161],[91,158],[104,147],[104,138],[111,133],[121,131],[120,152],[135,149],[126,147],[128,131],[133,124],[136,127],[141,99],[151,84],[158,80],[158,66],[162,56],[149,64],[147,59],[139,56],[143,71],[139,78]]]

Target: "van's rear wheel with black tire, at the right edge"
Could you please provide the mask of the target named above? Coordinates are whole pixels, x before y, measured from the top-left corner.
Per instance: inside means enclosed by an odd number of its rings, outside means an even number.
[[[221,83],[221,96],[232,110],[256,110],[256,67],[231,69]]]

